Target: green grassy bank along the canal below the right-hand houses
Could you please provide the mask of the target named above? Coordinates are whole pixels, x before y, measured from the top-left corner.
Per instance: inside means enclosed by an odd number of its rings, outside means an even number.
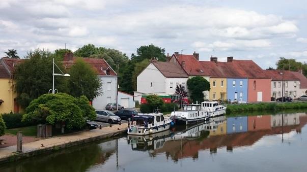
[[[226,113],[242,113],[253,111],[280,111],[286,109],[307,109],[307,102],[285,102],[285,103],[259,103],[259,104],[242,104],[228,105]]]

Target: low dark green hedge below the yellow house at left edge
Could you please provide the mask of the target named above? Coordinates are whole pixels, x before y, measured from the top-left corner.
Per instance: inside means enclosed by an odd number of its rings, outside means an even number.
[[[2,114],[2,118],[7,128],[19,128],[39,124],[41,121],[21,122],[22,114]]]

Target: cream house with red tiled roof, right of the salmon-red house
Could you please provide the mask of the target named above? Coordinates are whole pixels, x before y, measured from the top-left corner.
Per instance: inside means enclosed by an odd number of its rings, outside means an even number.
[[[291,71],[264,70],[271,77],[271,97],[283,96],[297,98],[300,94],[300,80]],[[283,87],[284,85],[284,87]],[[284,89],[284,90],[283,90]]]

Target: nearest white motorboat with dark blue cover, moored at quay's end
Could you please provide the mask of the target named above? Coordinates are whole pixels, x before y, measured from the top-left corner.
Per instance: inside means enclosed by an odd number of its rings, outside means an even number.
[[[128,128],[129,135],[147,135],[170,129],[173,120],[165,117],[162,113],[142,114],[134,116],[131,126]]]

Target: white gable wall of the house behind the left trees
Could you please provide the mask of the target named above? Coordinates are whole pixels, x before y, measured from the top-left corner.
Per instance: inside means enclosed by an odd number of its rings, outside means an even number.
[[[99,76],[102,83],[102,95],[93,100],[93,107],[97,110],[104,110],[107,102],[107,97],[111,97],[111,103],[116,102],[116,78],[115,76]],[[110,90],[107,89],[108,82],[111,84]]]

